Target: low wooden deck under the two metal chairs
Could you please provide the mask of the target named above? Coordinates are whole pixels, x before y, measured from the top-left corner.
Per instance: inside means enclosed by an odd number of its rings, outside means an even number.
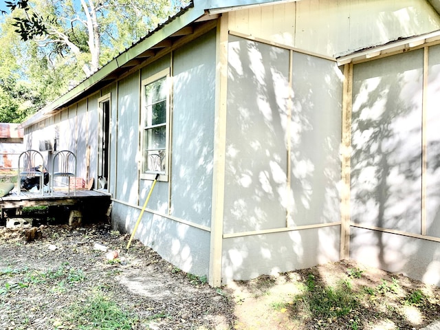
[[[55,190],[52,196],[49,193],[41,195],[40,193],[24,192],[18,194],[13,190],[9,195],[0,197],[0,208],[23,208],[28,206],[76,206],[89,205],[94,203],[107,205],[111,202],[111,196],[106,192],[99,190],[76,190],[74,196],[73,190],[70,195],[67,190]]]

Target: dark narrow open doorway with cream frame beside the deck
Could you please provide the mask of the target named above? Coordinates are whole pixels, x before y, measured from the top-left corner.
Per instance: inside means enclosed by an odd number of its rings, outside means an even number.
[[[99,137],[98,137],[98,189],[108,190],[109,181],[109,131],[110,131],[110,95],[99,102]]]

